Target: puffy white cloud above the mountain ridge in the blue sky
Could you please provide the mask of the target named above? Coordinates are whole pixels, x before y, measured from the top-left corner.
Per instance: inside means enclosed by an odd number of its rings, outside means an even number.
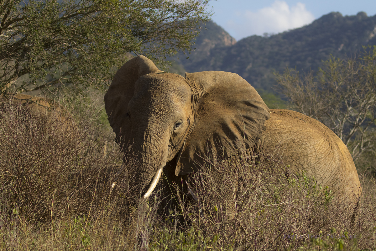
[[[228,21],[226,29],[236,34],[235,38],[240,39],[254,34],[279,33],[302,27],[314,19],[314,15],[307,11],[303,3],[297,3],[290,8],[286,2],[276,0],[271,6],[257,12],[238,12],[237,20]]]

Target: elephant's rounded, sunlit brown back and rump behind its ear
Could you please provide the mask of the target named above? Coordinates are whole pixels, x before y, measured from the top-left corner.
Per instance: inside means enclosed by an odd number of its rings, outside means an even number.
[[[343,141],[323,123],[296,111],[270,110],[270,115],[262,137],[263,151],[289,165],[292,172],[306,170],[353,207],[362,187]]]

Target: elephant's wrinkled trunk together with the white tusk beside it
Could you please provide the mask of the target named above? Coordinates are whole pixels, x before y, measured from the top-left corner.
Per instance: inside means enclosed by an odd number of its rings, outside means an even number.
[[[143,197],[148,198],[158,184],[162,170],[166,166],[168,153],[168,139],[163,138],[161,126],[155,122],[147,123],[146,126],[132,130],[134,139],[132,150],[138,156],[141,191],[145,191]]]

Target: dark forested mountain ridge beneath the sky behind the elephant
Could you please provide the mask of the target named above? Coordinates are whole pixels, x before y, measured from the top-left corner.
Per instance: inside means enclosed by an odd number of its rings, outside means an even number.
[[[239,74],[255,88],[271,91],[273,71],[286,67],[318,70],[331,55],[352,57],[362,46],[376,44],[376,15],[365,12],[343,16],[331,12],[304,27],[270,36],[250,36],[236,41],[210,21],[196,40],[195,51],[176,60],[187,72],[220,70]]]

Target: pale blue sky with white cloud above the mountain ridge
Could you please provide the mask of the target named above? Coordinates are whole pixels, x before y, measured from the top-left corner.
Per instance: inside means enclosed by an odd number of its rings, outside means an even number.
[[[212,20],[236,40],[302,27],[332,11],[376,14],[376,0],[217,0],[209,5]]]

